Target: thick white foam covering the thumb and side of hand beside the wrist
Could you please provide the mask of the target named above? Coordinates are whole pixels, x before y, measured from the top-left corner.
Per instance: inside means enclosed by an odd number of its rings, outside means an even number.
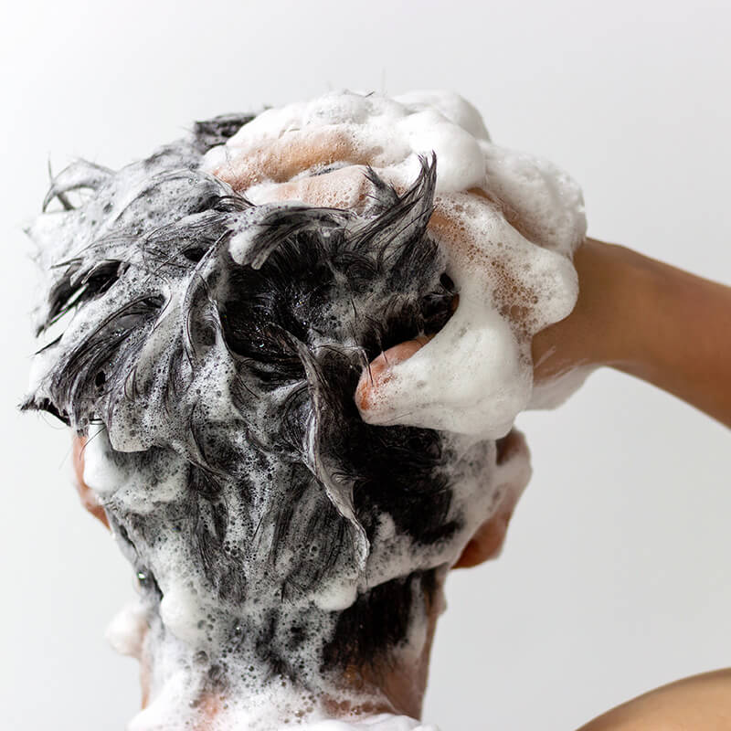
[[[429,344],[390,369],[361,413],[372,424],[497,439],[531,400],[531,338],[573,309],[576,270],[567,253],[524,238],[475,196],[443,196],[439,206],[461,221],[440,237],[459,306]]]

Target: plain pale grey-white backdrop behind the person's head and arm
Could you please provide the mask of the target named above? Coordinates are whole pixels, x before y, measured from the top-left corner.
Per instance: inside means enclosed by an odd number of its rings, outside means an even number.
[[[0,728],[122,728],[103,639],[132,576],[71,487],[69,435],[21,416],[48,162],[119,166],[189,124],[349,87],[460,91],[493,139],[583,186],[589,233],[731,281],[726,2],[3,4]],[[728,337],[719,333],[718,337]],[[425,718],[570,731],[731,660],[731,435],[603,371],[519,418],[534,479],[499,561],[450,578]]]

